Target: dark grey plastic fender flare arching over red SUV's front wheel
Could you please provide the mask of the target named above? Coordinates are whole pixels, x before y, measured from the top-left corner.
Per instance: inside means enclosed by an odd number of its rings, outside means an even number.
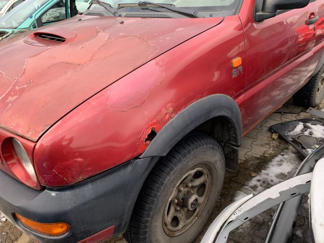
[[[185,135],[217,116],[226,116],[231,120],[236,130],[235,145],[240,146],[242,124],[238,105],[229,96],[211,95],[194,102],[173,117],[156,135],[140,158],[167,155]]]

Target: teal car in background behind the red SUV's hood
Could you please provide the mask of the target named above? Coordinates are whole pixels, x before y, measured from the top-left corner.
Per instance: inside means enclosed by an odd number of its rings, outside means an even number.
[[[0,41],[85,12],[92,0],[25,0],[0,19]]]

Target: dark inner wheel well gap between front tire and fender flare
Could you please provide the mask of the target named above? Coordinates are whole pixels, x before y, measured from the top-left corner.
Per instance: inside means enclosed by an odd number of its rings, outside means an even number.
[[[217,116],[197,126],[190,133],[204,133],[215,138],[225,153],[226,168],[235,171],[238,166],[239,139],[233,121],[226,116]],[[189,134],[190,134],[189,133]]]

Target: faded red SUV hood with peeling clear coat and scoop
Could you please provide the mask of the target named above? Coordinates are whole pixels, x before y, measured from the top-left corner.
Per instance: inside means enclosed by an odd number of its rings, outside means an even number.
[[[36,141],[100,90],[222,18],[76,16],[0,43],[0,126]]]

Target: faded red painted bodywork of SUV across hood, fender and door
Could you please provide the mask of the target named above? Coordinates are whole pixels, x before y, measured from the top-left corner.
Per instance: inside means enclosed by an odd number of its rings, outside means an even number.
[[[152,129],[212,94],[236,101],[246,133],[305,84],[324,46],[323,20],[305,27],[309,14],[324,16],[323,0],[262,23],[254,6],[245,0],[223,21],[83,16],[52,25],[76,33],[66,45],[27,45],[30,33],[3,41],[0,124],[37,141],[22,139],[39,182],[53,187],[139,156]],[[235,57],[243,73],[233,78]]]

